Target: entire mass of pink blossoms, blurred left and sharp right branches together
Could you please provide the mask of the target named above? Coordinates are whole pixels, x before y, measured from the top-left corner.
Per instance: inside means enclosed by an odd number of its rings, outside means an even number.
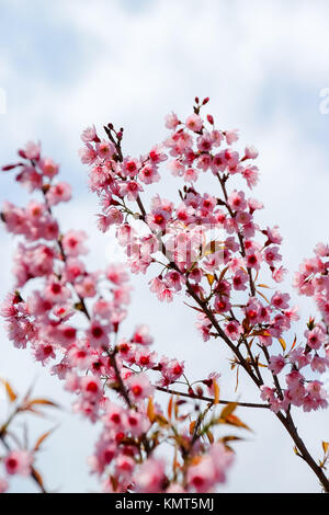
[[[309,455],[291,412],[292,407],[305,412],[328,407],[327,392],[314,377],[328,368],[328,245],[319,244],[316,258],[306,260],[295,278],[300,294],[315,297],[324,321],[310,319],[305,334],[290,344],[297,308],[276,287],[268,296],[264,288],[274,285],[263,279],[270,275],[281,283],[284,277],[282,237],[276,226],[260,227],[262,203],[234,184],[237,176],[247,188],[257,184],[259,170],[251,161],[258,151],[247,147],[240,154],[235,148],[238,131],[219,130],[213,115],[202,116],[207,102],[195,99],[185,123],[168,115],[168,138],[139,157],[124,154],[123,128],[115,130],[109,124],[103,140],[93,126],[83,131],[80,156],[90,167],[90,188],[100,198],[99,229],[105,232],[116,226],[132,272],[151,275],[150,290],[160,301],[186,295],[186,304],[197,311],[196,327],[204,341],[225,342],[231,368],[243,369],[268,403],[242,405],[270,408],[328,491],[324,465]],[[192,385],[184,363],[159,358],[149,350],[152,339],[144,324],[131,339],[118,339],[129,302],[126,274],[117,265],[88,271],[81,260],[87,234],[77,230],[63,234],[52,211],[52,205],[69,199],[69,188],[50,184],[52,172],[44,172],[39,145],[29,144],[20,157],[24,163],[4,170],[22,168],[16,179],[39,192],[42,202],[27,208],[7,203],[1,218],[10,232],[24,238],[15,258],[18,287],[35,277],[44,284],[32,299],[25,300],[23,291],[7,298],[2,311],[9,337],[19,347],[30,346],[42,364],[52,364],[52,373],[76,394],[76,412],[93,423],[103,421],[90,462],[106,492],[212,491],[225,480],[231,454],[225,438],[220,440],[225,446],[214,442],[211,427],[225,422],[243,426],[232,414],[236,404],[219,416],[211,413],[219,401],[218,373]],[[167,199],[157,194],[147,206],[143,194],[168,173],[166,168],[177,178],[178,196]],[[212,193],[200,191],[203,173],[214,181]],[[136,218],[146,232],[136,230]],[[84,314],[83,328],[76,325],[78,312]],[[185,392],[173,390],[178,380]],[[214,398],[204,397],[201,385]],[[163,410],[155,399],[158,390],[188,398],[194,420],[184,425],[179,398],[172,397]],[[117,404],[113,392],[120,398]],[[202,413],[201,400],[211,401]],[[171,468],[157,456],[159,434],[174,444]]]

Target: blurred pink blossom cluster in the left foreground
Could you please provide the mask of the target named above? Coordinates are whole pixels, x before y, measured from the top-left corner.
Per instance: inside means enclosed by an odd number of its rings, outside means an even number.
[[[97,145],[106,156],[105,144]],[[87,234],[61,232],[53,213],[71,197],[67,183],[54,183],[59,167],[36,144],[19,154],[21,161],[3,171],[19,170],[16,181],[39,201],[26,207],[7,202],[1,211],[7,230],[20,237],[15,289],[1,306],[9,339],[15,347],[29,346],[64,381],[76,398],[75,412],[102,424],[90,467],[105,492],[214,490],[225,481],[232,453],[209,428],[226,417],[205,416],[193,397],[188,402],[172,396],[164,413],[155,394],[183,377],[184,363],[154,352],[144,324],[129,337],[120,335],[131,298],[126,266],[88,270]],[[216,377],[204,382],[211,393]],[[161,457],[163,445],[174,447],[174,459]],[[10,453],[4,464],[9,474],[31,473],[31,455]]]

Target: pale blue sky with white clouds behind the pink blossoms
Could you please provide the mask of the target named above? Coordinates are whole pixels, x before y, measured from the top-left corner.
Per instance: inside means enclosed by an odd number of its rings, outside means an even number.
[[[57,210],[63,228],[83,226],[92,234],[90,264],[104,266],[117,255],[113,238],[95,230],[97,198],[78,156],[81,130],[109,122],[124,126],[125,151],[139,156],[166,137],[167,113],[188,116],[195,95],[209,96],[216,123],[238,127],[241,145],[260,151],[261,180],[253,192],[265,205],[260,221],[280,226],[284,262],[293,272],[318,241],[328,241],[329,114],[321,108],[321,92],[329,87],[328,20],[326,0],[0,0],[0,163],[11,162],[27,140],[42,140],[44,152],[60,163],[61,178],[73,185],[73,202]],[[166,178],[161,194],[170,197],[172,186]],[[1,203],[26,198],[8,175],[0,178]],[[0,228],[1,297],[12,285],[13,250],[13,239]],[[292,275],[285,286],[296,296],[291,282]],[[201,341],[182,298],[163,306],[149,293],[147,278],[133,277],[133,285],[127,333],[148,323],[155,350],[185,359],[194,377],[215,366],[223,396],[234,396],[229,355],[218,342]],[[296,302],[304,321],[315,313],[307,299]],[[31,420],[31,437],[58,426],[38,460],[46,485],[95,491],[87,457],[99,428],[70,414],[61,384],[29,353],[13,350],[2,328],[0,345],[1,377],[20,391],[34,381],[37,393],[65,407],[50,420]],[[239,394],[258,399],[247,380]],[[271,413],[238,414],[253,433],[239,443],[222,492],[318,491]],[[328,411],[296,412],[296,420],[320,457]],[[33,491],[27,480],[14,481],[12,489]]]

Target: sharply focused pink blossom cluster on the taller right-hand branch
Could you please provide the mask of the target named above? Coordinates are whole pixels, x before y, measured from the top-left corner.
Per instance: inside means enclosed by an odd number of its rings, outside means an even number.
[[[276,286],[287,272],[280,253],[282,236],[277,226],[257,222],[263,204],[239,187],[243,183],[249,190],[256,186],[258,151],[247,147],[239,152],[237,130],[220,130],[213,115],[202,116],[207,102],[195,99],[185,121],[169,114],[170,135],[137,158],[123,153],[123,128],[115,130],[109,124],[106,139],[101,139],[94,126],[83,131],[80,156],[90,168],[90,188],[100,197],[99,228],[106,231],[115,226],[133,273],[154,271],[150,290],[160,301],[170,302],[181,291],[196,301],[196,325],[204,341],[215,329],[236,356],[247,359],[262,399],[274,412],[287,411],[291,404],[304,411],[327,408],[327,392],[314,378],[329,367],[326,325],[309,322],[305,339],[286,348],[284,336],[290,337],[299,316],[290,295]],[[146,207],[143,193],[170,172],[183,184],[178,199],[157,194]],[[197,186],[205,173],[217,182],[212,193]],[[136,218],[145,224],[146,232],[136,229]],[[296,279],[302,293],[315,296],[325,323],[329,312],[326,258],[328,247],[319,244],[317,258],[302,265]],[[262,284],[261,274],[270,274],[273,281],[269,299],[262,288],[270,287]],[[277,354],[277,342],[284,354]],[[273,387],[265,386],[261,376],[261,355]]]

